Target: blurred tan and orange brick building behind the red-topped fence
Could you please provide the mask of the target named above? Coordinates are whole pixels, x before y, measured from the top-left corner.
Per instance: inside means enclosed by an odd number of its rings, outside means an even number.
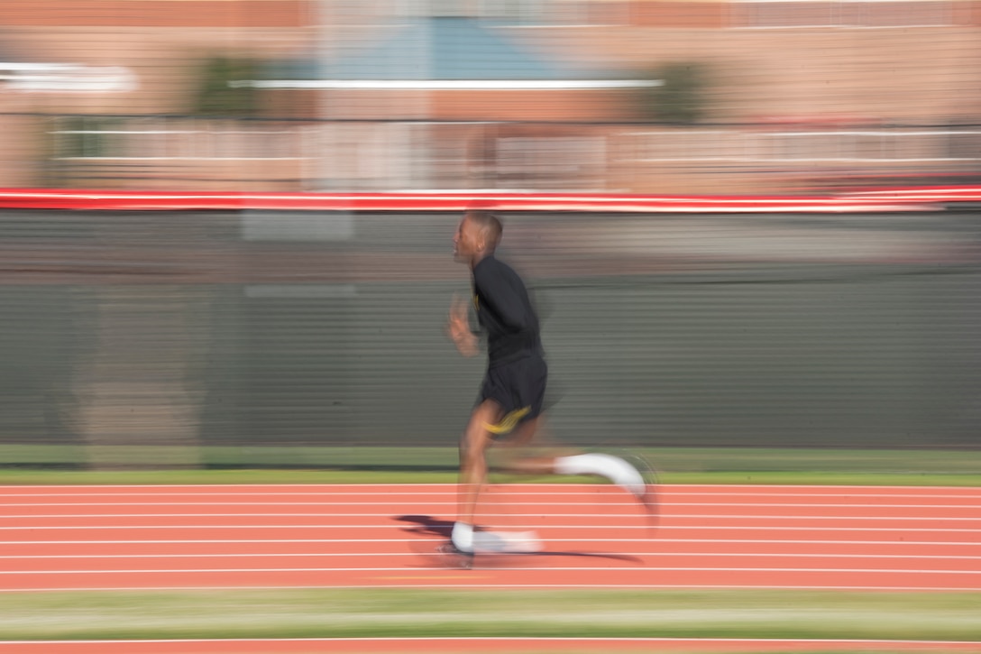
[[[944,160],[943,171],[975,166],[977,136],[970,130],[953,137],[909,131],[902,138],[867,132],[884,124],[936,132],[976,120],[981,13],[971,1],[444,4],[7,0],[0,4],[0,61],[22,68],[4,76],[0,91],[0,121],[9,135],[0,154],[0,186],[51,183],[45,174],[52,161],[69,173],[57,184],[253,190],[760,191],[822,171],[940,170],[937,160]],[[500,63],[499,49],[481,50],[484,41],[453,42],[439,27],[407,31],[448,18],[479,27],[490,40],[513,48],[512,55],[526,53],[525,69],[550,67],[566,80],[596,71],[606,79],[651,80],[667,62],[703,66],[705,124],[641,123],[646,116],[639,95],[628,88],[323,83],[354,81],[354,69],[346,69],[346,77],[336,72],[352,62],[371,64],[373,52],[375,64],[387,52],[392,62],[410,65],[405,38],[416,39],[417,52],[455,47],[459,61]],[[278,72],[305,70],[280,81],[321,85],[263,91],[262,115],[289,123],[270,120],[261,129],[250,124],[243,130],[240,124],[173,118],[192,112],[200,62],[216,54],[261,60]],[[459,62],[440,56],[436,63]],[[31,90],[23,80],[26,64],[123,69],[133,83]],[[522,73],[521,61],[512,64]],[[439,82],[432,69],[411,73],[402,77]],[[52,115],[127,116],[125,125],[109,131],[127,133],[127,142],[109,147],[118,138],[103,135],[94,155],[76,156],[63,144],[84,141],[79,134],[104,127],[65,129]],[[851,130],[847,137],[843,126]],[[774,130],[797,136],[775,140]],[[811,136],[801,136],[802,130]],[[837,139],[830,154],[832,140],[824,133]],[[866,153],[884,143],[898,153]],[[786,152],[773,155],[774,148]]]

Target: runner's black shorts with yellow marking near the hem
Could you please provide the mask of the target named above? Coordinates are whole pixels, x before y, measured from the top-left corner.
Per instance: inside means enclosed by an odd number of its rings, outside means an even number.
[[[541,354],[528,354],[488,368],[478,404],[497,403],[502,415],[497,424],[487,425],[492,434],[504,435],[525,420],[542,414],[548,366]]]

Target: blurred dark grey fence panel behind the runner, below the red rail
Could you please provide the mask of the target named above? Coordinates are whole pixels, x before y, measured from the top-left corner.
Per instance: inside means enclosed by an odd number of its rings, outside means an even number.
[[[451,446],[457,220],[2,211],[0,442]],[[564,442],[981,445],[974,213],[505,225]]]

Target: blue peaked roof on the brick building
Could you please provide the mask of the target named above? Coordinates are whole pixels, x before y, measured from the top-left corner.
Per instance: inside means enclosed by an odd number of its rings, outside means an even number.
[[[595,77],[548,61],[467,18],[431,18],[395,28],[376,46],[330,62],[327,80],[582,80]]]

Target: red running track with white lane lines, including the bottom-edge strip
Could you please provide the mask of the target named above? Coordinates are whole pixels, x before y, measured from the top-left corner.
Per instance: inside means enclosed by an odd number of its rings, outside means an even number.
[[[482,521],[536,529],[546,552],[478,558],[477,569],[461,571],[441,567],[434,553],[454,515],[452,485],[0,487],[0,590],[981,590],[979,488],[677,485],[662,486],[660,494],[660,523],[652,534],[640,506],[615,487],[493,486]],[[325,642],[276,641],[275,648],[252,641],[0,643],[0,654],[515,648],[493,639],[401,640],[398,648],[382,639]],[[849,641],[809,642],[811,649],[825,651],[861,648]],[[794,648],[787,641],[781,645],[784,651]],[[756,641],[658,639],[604,640],[589,647],[765,649]],[[937,647],[981,651],[981,643]],[[880,649],[937,647],[883,643]],[[520,648],[569,651],[576,643],[526,639]]]

